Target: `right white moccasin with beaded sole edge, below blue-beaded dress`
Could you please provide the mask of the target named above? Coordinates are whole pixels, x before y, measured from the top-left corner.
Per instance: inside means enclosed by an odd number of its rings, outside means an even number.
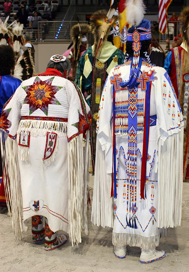
[[[163,250],[156,250],[156,249],[148,249],[141,251],[141,256],[139,261],[141,263],[150,263],[156,260],[161,260],[165,257],[165,251]]]

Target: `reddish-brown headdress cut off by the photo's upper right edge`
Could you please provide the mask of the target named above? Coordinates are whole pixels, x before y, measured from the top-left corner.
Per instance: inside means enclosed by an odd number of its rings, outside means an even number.
[[[179,20],[181,22],[182,38],[187,43],[187,46],[189,46],[189,7],[183,8]]]

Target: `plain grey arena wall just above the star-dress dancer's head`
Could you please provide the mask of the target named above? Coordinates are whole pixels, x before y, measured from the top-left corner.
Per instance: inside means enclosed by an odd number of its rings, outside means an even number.
[[[44,73],[46,65],[52,55],[63,54],[68,46],[67,43],[36,43],[35,47],[35,71],[36,74]]]

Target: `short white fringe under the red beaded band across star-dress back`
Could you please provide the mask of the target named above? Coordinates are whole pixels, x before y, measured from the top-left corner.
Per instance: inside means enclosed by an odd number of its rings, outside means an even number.
[[[67,134],[67,122],[55,122],[48,120],[21,120],[17,134],[30,132],[32,137],[45,136],[47,131],[54,131],[58,137]]]

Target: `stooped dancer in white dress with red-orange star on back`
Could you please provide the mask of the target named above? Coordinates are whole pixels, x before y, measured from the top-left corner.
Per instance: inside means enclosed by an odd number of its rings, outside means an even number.
[[[69,233],[73,245],[81,242],[83,229],[87,233],[83,137],[89,139],[91,115],[80,89],[67,80],[70,68],[67,57],[52,56],[45,73],[22,82],[0,122],[14,232],[21,238],[32,217],[32,239],[44,238],[45,250],[67,241],[58,230]]]

